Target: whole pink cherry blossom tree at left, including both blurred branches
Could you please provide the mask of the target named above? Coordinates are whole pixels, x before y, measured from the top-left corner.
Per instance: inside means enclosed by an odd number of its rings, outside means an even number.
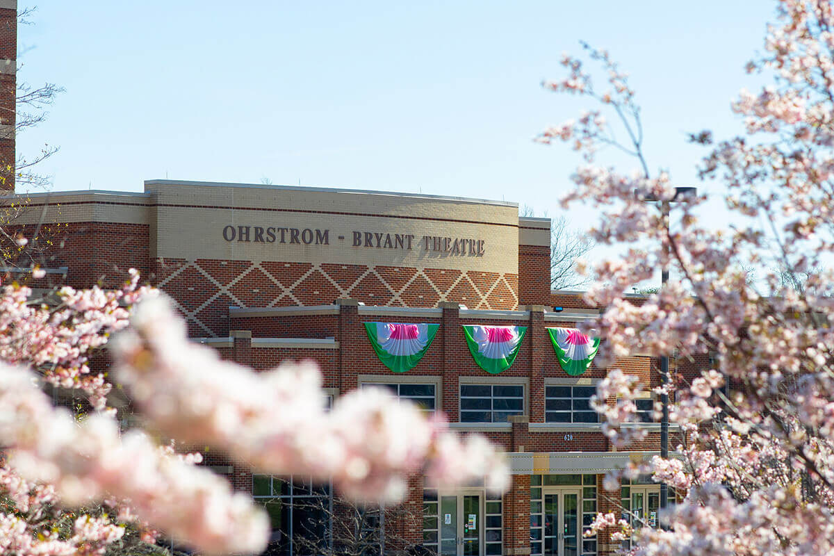
[[[395,502],[420,471],[506,487],[505,462],[485,438],[461,439],[442,418],[376,390],[325,411],[312,363],[254,373],[225,362],[189,342],[167,298],[138,279],[132,272],[118,290],[62,288],[50,299],[18,284],[0,291],[3,553],[103,554],[126,531],[147,541],[164,533],[208,554],[262,551],[264,509],[196,466],[198,453],[174,453],[158,438],[223,449],[264,473],[332,480],[354,501]],[[88,360],[105,344],[113,376]],[[113,384],[148,432],[121,430],[108,408]],[[45,385],[83,395],[90,411],[55,407]]]

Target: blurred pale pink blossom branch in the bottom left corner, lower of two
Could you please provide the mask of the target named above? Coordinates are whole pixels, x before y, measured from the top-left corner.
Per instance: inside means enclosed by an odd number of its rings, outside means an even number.
[[[121,435],[106,413],[78,423],[68,410],[53,408],[37,386],[28,371],[0,366],[0,438],[23,478],[53,485],[56,501],[70,507],[111,497],[126,502],[152,527],[208,553],[264,548],[266,516],[223,478],[165,453],[144,433]],[[77,528],[103,534],[104,522],[85,519]]]

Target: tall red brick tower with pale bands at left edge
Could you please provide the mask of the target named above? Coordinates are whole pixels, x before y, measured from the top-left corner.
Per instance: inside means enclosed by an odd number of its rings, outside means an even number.
[[[14,192],[18,0],[0,0],[0,191]]]

